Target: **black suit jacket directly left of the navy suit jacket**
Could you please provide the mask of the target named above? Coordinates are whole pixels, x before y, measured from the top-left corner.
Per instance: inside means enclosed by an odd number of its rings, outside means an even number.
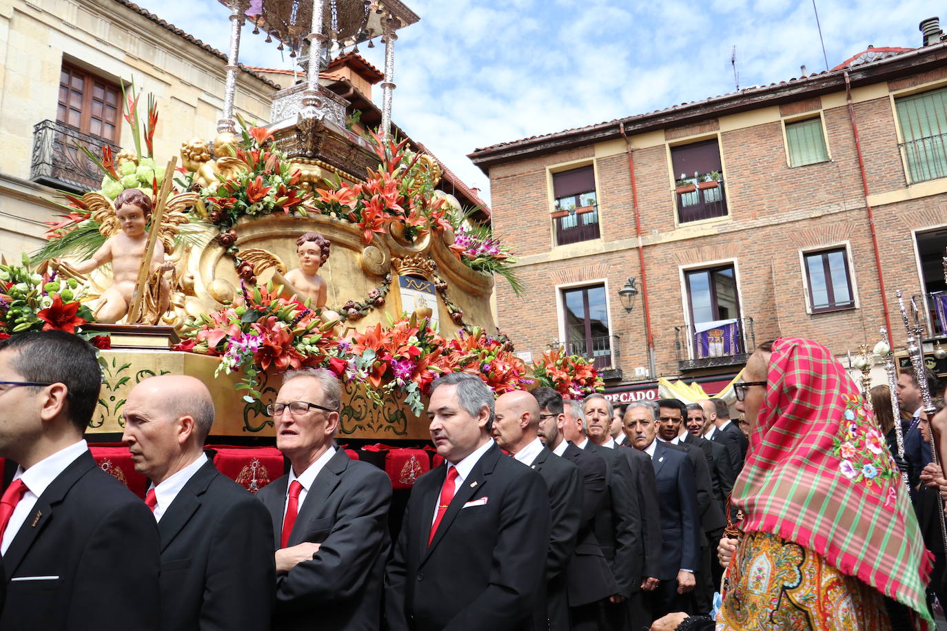
[[[634,474],[628,459],[619,453],[620,448],[599,447],[592,441],[585,445],[587,451],[598,455],[608,466],[608,503],[596,516],[595,535],[612,568],[618,593],[627,598],[641,587],[644,519],[634,488]]]

